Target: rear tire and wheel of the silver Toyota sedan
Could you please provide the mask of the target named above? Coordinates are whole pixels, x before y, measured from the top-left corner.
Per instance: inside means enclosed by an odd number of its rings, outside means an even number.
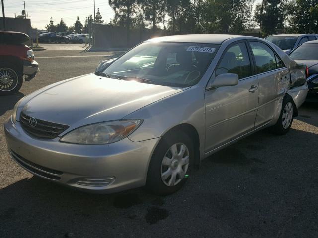
[[[282,110],[276,124],[271,127],[271,131],[277,135],[285,135],[293,124],[294,102],[289,95],[283,99]]]

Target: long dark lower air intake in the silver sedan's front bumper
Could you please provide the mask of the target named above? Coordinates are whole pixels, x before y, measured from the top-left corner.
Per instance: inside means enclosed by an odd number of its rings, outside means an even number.
[[[13,159],[18,163],[20,166],[25,168],[27,171],[31,172],[32,174],[45,177],[47,179],[53,179],[53,180],[60,180],[61,175],[63,175],[63,172],[58,170],[53,170],[46,168],[41,165],[37,165],[31,161],[28,161],[27,159],[24,159],[22,156],[18,155],[14,151],[11,150],[11,155]]]

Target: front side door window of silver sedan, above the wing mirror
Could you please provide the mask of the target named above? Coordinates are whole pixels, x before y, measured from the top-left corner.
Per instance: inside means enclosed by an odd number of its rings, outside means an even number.
[[[216,76],[223,73],[235,73],[239,75],[239,79],[251,76],[252,69],[245,43],[231,46],[223,54],[215,73]]]

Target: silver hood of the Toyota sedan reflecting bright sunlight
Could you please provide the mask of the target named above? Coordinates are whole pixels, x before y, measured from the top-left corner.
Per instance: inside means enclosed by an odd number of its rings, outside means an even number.
[[[122,119],[184,89],[88,74],[35,92],[33,97],[28,97],[23,112],[36,119],[69,125],[72,129]]]

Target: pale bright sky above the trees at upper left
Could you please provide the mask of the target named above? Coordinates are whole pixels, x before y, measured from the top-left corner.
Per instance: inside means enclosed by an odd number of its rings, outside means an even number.
[[[255,0],[255,4],[261,0]],[[95,0],[95,11],[101,13],[104,23],[113,18],[114,11],[108,5],[108,0]],[[4,0],[5,17],[21,15],[24,9],[23,0]],[[25,10],[31,19],[33,28],[45,29],[52,17],[54,24],[63,18],[67,26],[71,26],[79,16],[82,24],[90,14],[94,15],[94,0],[25,0]],[[0,14],[2,16],[2,14]]]

